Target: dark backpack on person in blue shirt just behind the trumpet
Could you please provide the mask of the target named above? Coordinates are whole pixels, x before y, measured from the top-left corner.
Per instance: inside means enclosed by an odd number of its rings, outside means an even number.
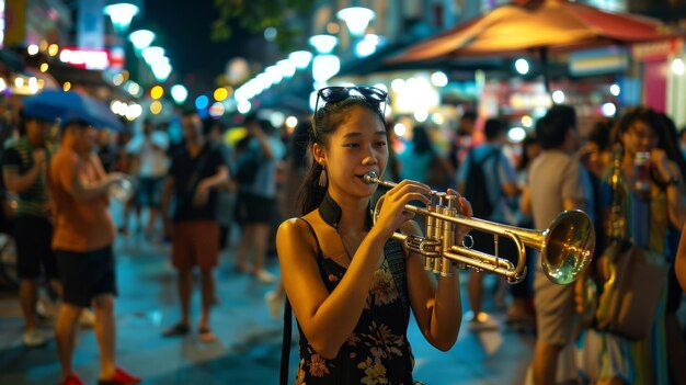
[[[481,160],[476,161],[473,152],[470,154],[467,162],[467,180],[465,181],[465,197],[471,203],[473,215],[478,218],[488,219],[493,214],[494,204],[489,194],[488,180],[483,172],[483,165],[492,157],[498,157],[493,166],[493,174],[498,178],[498,163],[500,160],[500,148],[491,150]]]

